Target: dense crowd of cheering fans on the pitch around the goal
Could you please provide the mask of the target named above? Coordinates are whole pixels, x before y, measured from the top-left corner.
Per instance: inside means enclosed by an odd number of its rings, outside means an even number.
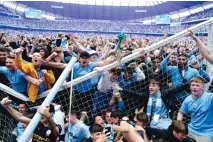
[[[43,117],[31,137],[33,142],[212,142],[213,97],[207,92],[202,95],[210,75],[190,38],[150,53],[144,53],[151,44],[149,39],[129,39],[123,34],[105,39],[63,33],[48,38],[8,37],[1,33],[0,43],[0,82],[28,96],[32,103],[52,88],[72,57],[78,57],[72,70],[74,79],[93,70],[100,73],[74,86],[72,110],[67,116],[60,110],[63,104],[38,107]],[[139,57],[109,71],[104,69],[132,53]],[[67,87],[67,81],[62,87]],[[140,91],[132,88],[135,84],[140,85]],[[133,106],[125,101],[130,98],[135,101]],[[11,102],[18,105],[18,111]],[[135,115],[128,115],[127,107],[135,108],[136,102]],[[19,139],[33,115],[24,102],[12,96],[1,104],[19,121],[15,134]],[[178,120],[174,120],[178,111]],[[191,115],[188,127],[182,121],[185,114]],[[90,127],[84,123],[87,119]]]

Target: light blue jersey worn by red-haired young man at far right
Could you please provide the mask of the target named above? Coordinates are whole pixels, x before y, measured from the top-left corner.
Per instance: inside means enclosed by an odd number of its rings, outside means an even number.
[[[192,95],[188,96],[180,112],[191,115],[189,131],[213,138],[213,94],[204,92],[200,98],[194,99]]]

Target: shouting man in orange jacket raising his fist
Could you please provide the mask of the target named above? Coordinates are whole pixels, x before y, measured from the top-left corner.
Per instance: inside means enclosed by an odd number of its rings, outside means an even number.
[[[42,69],[41,67],[41,54],[34,53],[32,56],[32,63],[25,64],[22,60],[21,53],[23,48],[16,50],[15,62],[17,67],[25,74],[39,80],[44,80],[40,83],[40,86],[28,82],[28,96],[31,102],[36,102],[37,96],[44,91],[51,88],[51,84],[55,82],[55,77],[52,70]]]

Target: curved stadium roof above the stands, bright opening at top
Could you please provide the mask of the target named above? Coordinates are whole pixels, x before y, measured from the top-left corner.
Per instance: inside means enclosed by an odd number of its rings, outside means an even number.
[[[58,1],[58,0],[55,0]],[[73,19],[132,20],[167,14],[201,5],[206,1],[72,0],[17,1],[28,7]]]

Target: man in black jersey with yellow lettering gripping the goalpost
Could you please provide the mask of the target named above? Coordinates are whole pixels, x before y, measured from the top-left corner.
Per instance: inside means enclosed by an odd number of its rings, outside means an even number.
[[[13,109],[10,106],[11,102],[12,101],[8,98],[4,98],[1,101],[1,105],[10,113],[14,119],[24,124],[29,124],[31,119],[23,116],[23,114]],[[44,140],[50,142],[56,141],[61,132],[61,126],[57,125],[52,119],[54,107],[52,105],[48,107],[39,106],[37,112],[40,113],[43,117],[33,133],[32,142],[42,142]]]

